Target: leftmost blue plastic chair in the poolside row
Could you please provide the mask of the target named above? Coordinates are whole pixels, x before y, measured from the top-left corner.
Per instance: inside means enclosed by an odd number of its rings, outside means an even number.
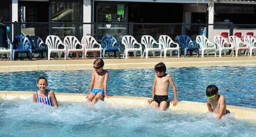
[[[17,53],[17,56],[15,56]],[[13,60],[15,57],[18,57],[18,53],[26,53],[29,56],[30,60],[32,60],[32,45],[30,40],[26,36],[15,36],[12,43],[12,56]]]

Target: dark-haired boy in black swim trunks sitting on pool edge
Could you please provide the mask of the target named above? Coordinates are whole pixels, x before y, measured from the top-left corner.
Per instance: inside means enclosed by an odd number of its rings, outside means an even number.
[[[154,85],[152,87],[152,99],[148,99],[148,103],[152,104],[153,108],[158,108],[160,110],[165,110],[168,105],[168,87],[169,84],[172,85],[172,91],[174,95],[173,105],[177,105],[177,90],[174,82],[172,81],[172,76],[166,74],[166,66],[163,62],[159,62],[155,66],[155,79]]]

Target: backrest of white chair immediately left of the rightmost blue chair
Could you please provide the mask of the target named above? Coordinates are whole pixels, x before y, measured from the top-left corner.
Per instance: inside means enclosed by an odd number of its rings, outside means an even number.
[[[159,36],[159,44],[162,48],[175,48],[177,47],[177,43],[173,42],[172,38],[168,35],[160,35]]]

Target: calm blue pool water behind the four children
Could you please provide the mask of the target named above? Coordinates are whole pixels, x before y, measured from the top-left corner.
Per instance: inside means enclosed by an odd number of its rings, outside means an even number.
[[[49,89],[63,93],[88,93],[90,70],[0,73],[0,91],[36,91],[36,80],[45,76]],[[179,100],[206,102],[205,88],[215,84],[228,105],[255,107],[255,66],[203,66],[167,68],[177,86]],[[151,97],[154,69],[109,70],[108,95]],[[172,89],[169,89],[172,99]]]

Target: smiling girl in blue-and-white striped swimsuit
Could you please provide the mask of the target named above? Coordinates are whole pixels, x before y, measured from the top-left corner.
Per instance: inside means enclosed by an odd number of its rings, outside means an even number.
[[[33,102],[40,102],[45,105],[59,107],[55,93],[46,89],[48,82],[45,77],[39,77],[36,86],[39,90],[33,93]]]

